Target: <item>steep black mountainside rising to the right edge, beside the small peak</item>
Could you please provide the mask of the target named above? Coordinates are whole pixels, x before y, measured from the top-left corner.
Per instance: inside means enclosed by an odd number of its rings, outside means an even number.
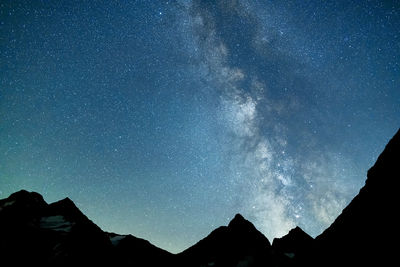
[[[331,266],[371,263],[383,266],[396,262],[399,179],[400,130],[369,169],[359,194],[332,225],[317,236],[316,265],[323,261]]]

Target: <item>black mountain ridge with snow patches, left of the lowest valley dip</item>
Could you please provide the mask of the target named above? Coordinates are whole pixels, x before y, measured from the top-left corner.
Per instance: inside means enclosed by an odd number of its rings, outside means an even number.
[[[160,266],[170,257],[146,240],[103,232],[69,198],[47,204],[22,190],[0,200],[1,266]]]

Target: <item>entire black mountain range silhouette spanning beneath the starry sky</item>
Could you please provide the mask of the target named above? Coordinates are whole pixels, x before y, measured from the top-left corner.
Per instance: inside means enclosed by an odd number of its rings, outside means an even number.
[[[400,131],[360,193],[316,239],[296,227],[272,245],[237,214],[171,254],[131,235],[102,231],[69,199],[47,204],[25,190],[0,200],[1,266],[378,266],[396,262]]]

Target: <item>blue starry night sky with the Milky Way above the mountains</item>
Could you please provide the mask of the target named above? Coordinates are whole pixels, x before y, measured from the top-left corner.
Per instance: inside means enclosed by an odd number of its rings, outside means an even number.
[[[320,234],[400,126],[398,1],[0,3],[0,198],[171,252]]]

